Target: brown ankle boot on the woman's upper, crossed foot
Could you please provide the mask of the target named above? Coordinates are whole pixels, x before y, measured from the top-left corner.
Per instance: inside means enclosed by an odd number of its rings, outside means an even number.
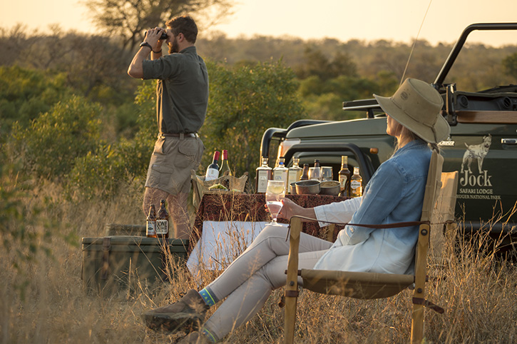
[[[184,330],[189,333],[200,328],[208,308],[198,291],[191,289],[178,302],[149,310],[143,313],[142,318],[153,330],[171,333]]]

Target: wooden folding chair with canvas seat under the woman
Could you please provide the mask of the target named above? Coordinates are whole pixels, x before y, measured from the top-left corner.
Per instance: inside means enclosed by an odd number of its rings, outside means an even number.
[[[298,296],[297,277],[299,275],[302,277],[304,289],[322,294],[342,295],[360,299],[388,298],[414,284],[411,343],[421,343],[424,335],[424,307],[444,313],[443,308],[425,299],[426,259],[429,248],[429,234],[431,232],[431,216],[434,211],[439,209],[440,211],[449,211],[449,214],[444,217],[446,221],[451,222],[454,218],[454,213],[451,213],[451,211],[454,212],[454,203],[452,203],[452,206],[436,207],[436,199],[440,191],[448,193],[447,195],[442,194],[441,199],[456,201],[456,187],[441,190],[442,176],[447,181],[452,180],[453,185],[457,185],[458,174],[457,171],[441,173],[443,162],[444,158],[438,153],[433,152],[427,176],[421,221],[416,222],[419,223],[419,238],[416,243],[414,275],[311,269],[298,270],[298,247],[300,244],[300,232],[302,231],[302,218],[291,218],[290,251],[285,288],[285,343],[293,343],[294,340]],[[456,180],[456,184],[454,184],[454,180]],[[451,183],[447,185],[450,186]],[[404,223],[399,223],[399,225],[404,226]],[[379,226],[386,228],[386,226]],[[405,226],[409,226],[409,223],[405,223]]]

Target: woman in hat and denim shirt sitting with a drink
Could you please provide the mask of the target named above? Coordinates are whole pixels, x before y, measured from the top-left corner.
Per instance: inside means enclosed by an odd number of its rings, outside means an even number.
[[[374,95],[387,113],[387,133],[397,141],[396,152],[382,163],[354,198],[316,208],[302,208],[285,199],[280,217],[294,215],[319,221],[380,224],[419,221],[431,148],[449,136],[440,111],[439,93],[424,81],[407,79],[390,98]],[[429,145],[427,144],[429,143]],[[324,224],[323,224],[324,225]],[[225,301],[198,330],[179,343],[215,343],[255,315],[272,293],[285,285],[289,241],[287,226],[267,226],[251,245],[212,283],[190,290],[177,303],[143,315],[150,328],[191,330],[208,308]],[[329,243],[302,233],[299,268],[378,273],[410,273],[417,227],[370,229],[346,226]],[[302,284],[302,280],[299,280]]]

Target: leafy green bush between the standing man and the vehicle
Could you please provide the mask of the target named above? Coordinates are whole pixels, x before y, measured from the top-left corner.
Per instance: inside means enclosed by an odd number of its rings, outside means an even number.
[[[210,101],[201,136],[207,148],[203,166],[215,149],[227,149],[230,168],[240,176],[259,164],[262,133],[302,118],[297,82],[282,62],[230,67],[208,62]]]

